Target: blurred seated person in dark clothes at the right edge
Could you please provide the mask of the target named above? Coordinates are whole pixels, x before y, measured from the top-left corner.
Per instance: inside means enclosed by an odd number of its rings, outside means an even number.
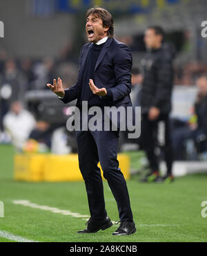
[[[172,145],[176,160],[183,160],[184,143],[188,139],[194,141],[199,152],[207,152],[207,75],[201,75],[196,84],[198,93],[193,116],[172,132]]]

